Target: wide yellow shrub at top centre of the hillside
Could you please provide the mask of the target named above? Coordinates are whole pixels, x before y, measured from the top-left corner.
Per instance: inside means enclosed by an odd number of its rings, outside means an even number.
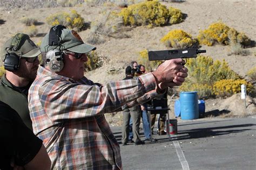
[[[168,24],[170,18],[172,18],[171,23],[179,23],[182,20],[182,15],[181,18],[178,18],[180,11],[173,8],[170,8],[170,10],[159,2],[146,1],[122,9],[120,16],[123,17],[125,25],[162,26]]]

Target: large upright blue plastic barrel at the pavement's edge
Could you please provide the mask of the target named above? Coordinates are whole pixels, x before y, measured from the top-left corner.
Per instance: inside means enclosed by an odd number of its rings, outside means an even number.
[[[179,101],[181,119],[192,120],[199,118],[197,91],[181,92]]]

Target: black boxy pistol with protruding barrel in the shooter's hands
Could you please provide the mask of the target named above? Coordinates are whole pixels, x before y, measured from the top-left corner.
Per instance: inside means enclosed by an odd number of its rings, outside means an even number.
[[[170,59],[179,59],[179,58],[181,59],[196,58],[197,54],[199,53],[206,53],[206,50],[205,49],[199,50],[197,48],[186,48],[186,49],[149,51],[149,60],[153,61],[153,60],[170,60]]]

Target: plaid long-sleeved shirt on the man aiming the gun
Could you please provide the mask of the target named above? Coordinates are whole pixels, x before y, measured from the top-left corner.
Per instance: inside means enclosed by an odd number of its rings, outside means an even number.
[[[120,148],[103,114],[158,95],[152,73],[97,86],[41,66],[29,89],[33,132],[43,140],[53,169],[122,169]]]

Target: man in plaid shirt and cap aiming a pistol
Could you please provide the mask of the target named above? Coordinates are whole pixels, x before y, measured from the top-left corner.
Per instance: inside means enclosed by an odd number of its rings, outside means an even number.
[[[43,38],[47,64],[39,67],[28,98],[33,132],[53,169],[122,169],[104,114],[149,101],[187,77],[184,60],[174,59],[135,79],[95,84],[84,77],[86,53],[95,49],[64,26],[52,27]]]

